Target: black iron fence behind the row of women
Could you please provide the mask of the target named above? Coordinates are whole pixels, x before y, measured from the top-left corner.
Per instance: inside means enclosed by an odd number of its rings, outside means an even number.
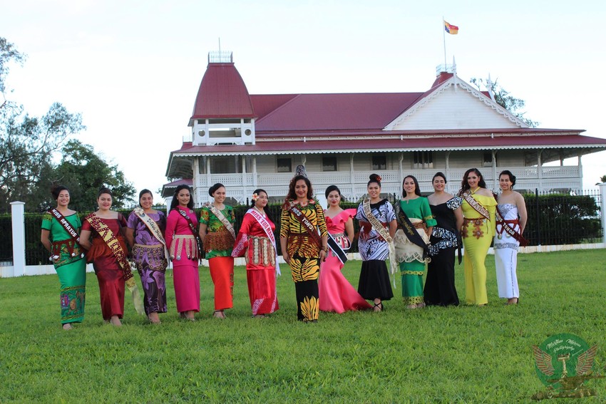
[[[529,245],[552,245],[552,244],[583,244],[602,242],[602,226],[600,222],[600,192],[589,191],[577,195],[540,193],[524,195],[526,209],[528,211],[528,224],[524,236],[530,242]],[[395,195],[390,195],[389,200],[396,200]],[[344,209],[356,208],[355,202],[344,202]],[[165,210],[165,207],[155,207]],[[242,223],[242,217],[246,213],[247,206],[234,207],[236,217],[236,232]],[[271,204],[266,208],[271,214],[277,229],[279,229],[280,205]],[[199,209],[197,209],[198,211]],[[130,209],[122,209],[119,212],[125,216],[130,214]],[[42,214],[25,214],[26,234],[26,264],[48,263],[48,253],[40,243],[40,224]],[[81,214],[81,218],[86,213]],[[2,262],[12,260],[12,234],[11,215],[0,214],[0,265]],[[356,234],[359,226],[354,220]],[[278,243],[279,249],[279,243]],[[351,252],[357,252],[357,243],[351,247]],[[279,252],[281,254],[281,252]]]

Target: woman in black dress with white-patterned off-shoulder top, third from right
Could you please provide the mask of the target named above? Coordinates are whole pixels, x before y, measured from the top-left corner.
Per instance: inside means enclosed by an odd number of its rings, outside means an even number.
[[[434,192],[427,199],[437,225],[431,232],[429,246],[431,262],[427,266],[425,289],[423,289],[425,304],[458,306],[454,264],[455,250],[462,247],[459,229],[463,226],[461,209],[463,199],[444,191],[446,176],[442,172],[437,172],[431,183]]]

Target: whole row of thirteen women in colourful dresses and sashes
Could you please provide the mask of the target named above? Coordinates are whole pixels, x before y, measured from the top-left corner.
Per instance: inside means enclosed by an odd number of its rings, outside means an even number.
[[[448,194],[446,176],[433,176],[433,194],[421,196],[418,182],[406,176],[402,199],[396,209],[381,198],[381,177],[371,175],[368,198],[358,209],[341,209],[341,192],[332,185],[325,195],[326,210],[314,199],[312,184],[304,172],[289,184],[280,214],[279,243],[282,257],[291,269],[297,300],[297,319],[317,322],[319,311],[382,311],[391,299],[389,273],[401,275],[402,296],[409,309],[426,305],[458,305],[454,284],[455,255],[465,248],[466,303],[485,305],[488,248],[494,240],[499,296],[508,304],[518,302],[516,253],[525,227],[522,195],[512,190],[515,176],[501,172],[502,193],[486,189],[481,173],[466,172],[457,196]],[[280,274],[275,219],[269,196],[257,189],[235,232],[232,207],[224,204],[225,187],[215,184],[213,202],[193,209],[190,188],[175,190],[168,217],[152,208],[149,190],[139,195],[137,207],[125,219],[111,210],[111,190],[98,192],[98,210],[81,223],[68,209],[66,187],[53,190],[57,207],[42,223],[41,241],[51,252],[51,261],[61,281],[61,323],[70,329],[81,322],[86,296],[86,262],[92,262],[101,294],[103,319],[120,326],[125,289],[138,307],[137,286],[128,257],[140,274],[143,307],[151,323],[167,311],[165,270],[173,263],[175,300],[180,316],[195,321],[200,311],[200,259],[208,260],[215,286],[213,316],[225,318],[233,306],[234,258],[245,257],[252,316],[267,317],[279,309],[276,278]],[[495,199],[496,198],[496,199]],[[346,251],[354,241],[354,217],[359,221],[359,254],[362,259],[358,289],[341,274]],[[390,258],[391,271],[386,259]],[[426,282],[423,274],[427,266]],[[395,283],[394,283],[395,286]],[[370,301],[371,303],[369,304]]]

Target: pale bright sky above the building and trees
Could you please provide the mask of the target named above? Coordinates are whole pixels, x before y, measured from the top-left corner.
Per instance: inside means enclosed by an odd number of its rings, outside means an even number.
[[[160,190],[207,53],[232,51],[252,94],[423,92],[456,58],[464,81],[491,75],[540,128],[606,138],[606,4],[597,1],[2,1],[0,36],[27,59],[6,98],[43,115],[81,113],[78,135],[137,190]],[[576,165],[577,160],[566,160]],[[606,152],[582,157],[584,187]],[[156,193],[156,199],[159,195]]]

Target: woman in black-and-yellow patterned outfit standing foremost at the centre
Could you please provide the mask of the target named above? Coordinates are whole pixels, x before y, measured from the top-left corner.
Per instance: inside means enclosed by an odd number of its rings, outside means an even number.
[[[282,205],[280,222],[282,257],[290,265],[297,293],[297,319],[306,323],[318,321],[320,261],[326,258],[328,252],[324,210],[313,195],[309,179],[304,175],[294,176]],[[310,227],[305,227],[297,219],[296,212],[302,214]]]

